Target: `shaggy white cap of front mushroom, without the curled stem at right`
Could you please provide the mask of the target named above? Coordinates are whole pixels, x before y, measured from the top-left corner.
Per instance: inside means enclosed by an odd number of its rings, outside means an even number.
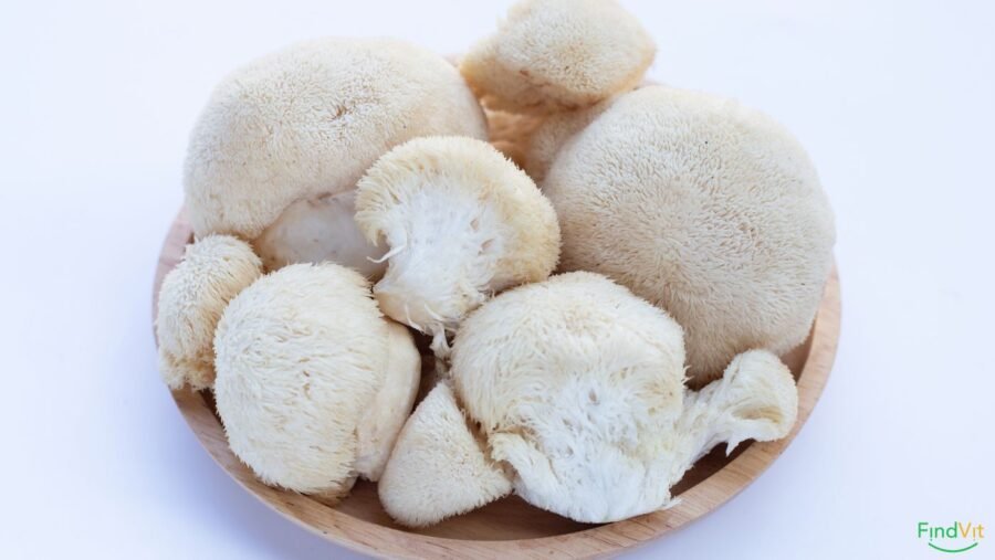
[[[451,376],[491,457],[528,503],[603,522],[669,498],[653,466],[678,442],[681,327],[604,276],[509,290],[464,321]]]

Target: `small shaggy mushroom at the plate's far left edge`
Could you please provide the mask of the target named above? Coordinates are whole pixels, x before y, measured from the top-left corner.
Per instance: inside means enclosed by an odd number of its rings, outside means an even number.
[[[159,371],[171,389],[214,382],[214,329],[228,303],[256,281],[262,263],[245,242],[208,235],[187,245],[159,288]]]

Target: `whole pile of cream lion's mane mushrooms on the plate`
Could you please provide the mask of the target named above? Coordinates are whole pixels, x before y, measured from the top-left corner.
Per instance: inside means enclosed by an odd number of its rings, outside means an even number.
[[[523,0],[455,64],[327,39],[235,71],[190,137],[166,383],[263,483],[378,482],[410,527],[510,494],[620,520],[786,436],[832,212],[790,134],[649,85],[654,53],[614,0]]]

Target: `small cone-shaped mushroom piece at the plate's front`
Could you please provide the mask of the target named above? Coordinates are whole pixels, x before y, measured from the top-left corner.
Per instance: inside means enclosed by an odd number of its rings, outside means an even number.
[[[378,490],[390,517],[425,527],[506,496],[512,483],[440,382],[405,424]]]

